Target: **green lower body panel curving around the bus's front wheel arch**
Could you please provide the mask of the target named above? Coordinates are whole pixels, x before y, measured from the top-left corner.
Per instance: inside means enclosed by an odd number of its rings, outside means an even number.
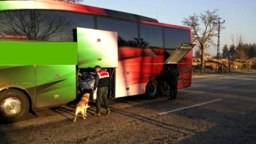
[[[0,90],[6,88],[18,88],[28,92],[33,109],[35,102],[34,66],[0,66]]]

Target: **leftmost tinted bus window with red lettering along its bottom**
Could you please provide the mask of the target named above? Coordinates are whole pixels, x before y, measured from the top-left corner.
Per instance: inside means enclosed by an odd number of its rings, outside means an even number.
[[[31,11],[0,11],[0,40],[31,40]]]

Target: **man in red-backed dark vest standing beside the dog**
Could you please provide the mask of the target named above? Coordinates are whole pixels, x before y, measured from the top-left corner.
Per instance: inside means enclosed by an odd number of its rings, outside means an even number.
[[[109,73],[106,72],[104,69],[101,69],[100,66],[95,66],[96,75],[95,75],[95,83],[93,87],[93,93],[97,88],[97,98],[96,98],[96,113],[94,116],[100,116],[100,99],[102,97],[103,102],[105,104],[105,108],[107,110],[107,115],[110,114],[109,109],[109,101],[107,99],[107,94],[109,91]]]

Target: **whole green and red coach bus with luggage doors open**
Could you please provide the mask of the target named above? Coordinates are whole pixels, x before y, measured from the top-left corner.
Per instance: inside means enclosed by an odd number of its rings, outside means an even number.
[[[78,94],[79,72],[100,65],[110,74],[109,96],[145,94],[164,85],[164,66],[192,83],[188,27],[105,8],[55,0],[0,1],[0,121],[67,105]],[[95,97],[95,96],[93,96]]]

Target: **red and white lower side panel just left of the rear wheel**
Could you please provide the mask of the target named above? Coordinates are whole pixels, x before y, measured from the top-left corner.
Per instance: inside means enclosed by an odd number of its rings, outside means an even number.
[[[144,94],[148,81],[161,73],[164,50],[122,47],[118,53],[115,97]]]

